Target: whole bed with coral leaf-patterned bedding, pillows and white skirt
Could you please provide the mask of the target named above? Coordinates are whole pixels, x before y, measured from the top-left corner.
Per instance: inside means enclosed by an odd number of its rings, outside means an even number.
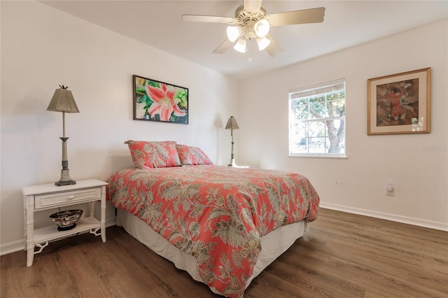
[[[242,297],[316,219],[316,190],[299,173],[218,166],[199,148],[160,143],[128,142],[134,167],[106,188],[117,224],[216,294]]]

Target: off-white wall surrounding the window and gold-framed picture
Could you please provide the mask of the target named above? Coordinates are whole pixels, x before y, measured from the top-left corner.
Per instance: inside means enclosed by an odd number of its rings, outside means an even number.
[[[436,22],[241,82],[237,163],[303,173],[321,206],[447,230],[447,28]],[[367,79],[426,67],[430,134],[367,136]],[[288,157],[288,90],[337,78],[346,78],[348,158]]]

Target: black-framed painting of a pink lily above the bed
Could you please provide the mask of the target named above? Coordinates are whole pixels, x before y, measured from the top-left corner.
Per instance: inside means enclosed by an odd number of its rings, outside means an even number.
[[[132,76],[134,120],[188,124],[188,88]]]

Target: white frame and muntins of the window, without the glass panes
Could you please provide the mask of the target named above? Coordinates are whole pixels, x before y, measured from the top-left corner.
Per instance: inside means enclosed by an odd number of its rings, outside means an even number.
[[[325,113],[328,103],[330,101],[327,101],[328,95],[335,94],[337,92],[344,91],[344,99],[339,99],[339,104],[343,104],[344,108],[344,115],[339,116],[330,116],[330,115],[323,115],[321,118],[316,117],[310,117],[311,113],[308,115],[308,118],[304,119],[297,119],[295,115],[295,108],[297,106],[296,102],[297,100],[305,101],[307,99],[311,99],[313,97],[318,96],[324,96],[325,101],[323,101],[321,104],[324,105]],[[340,78],[337,80],[331,80],[325,83],[318,83],[315,85],[309,85],[305,87],[299,87],[295,88],[293,90],[289,90],[289,102],[288,102],[288,109],[289,109],[289,156],[294,157],[342,157],[346,158],[346,85],[345,85],[345,78]],[[310,104],[308,104],[310,105]],[[308,107],[309,109],[309,107]],[[343,129],[343,138],[342,138],[342,152],[328,152],[327,145],[330,140],[330,136],[328,136],[328,127],[325,125],[325,122],[336,120],[339,121],[339,125],[342,122],[342,129]],[[323,122],[323,125],[325,126],[325,134],[323,136],[309,136],[309,130],[307,132],[304,132],[302,129],[297,129],[298,125],[301,125],[302,127],[310,127],[310,125],[313,125],[318,122]],[[339,126],[340,127],[340,126]],[[306,144],[305,148],[307,152],[304,152],[303,150],[296,150],[297,148],[297,134],[302,134],[306,136],[302,136],[302,139],[305,139]],[[319,147],[320,150],[324,149],[325,152],[310,152],[310,146],[309,143],[311,139],[319,139],[323,140],[323,148]]]

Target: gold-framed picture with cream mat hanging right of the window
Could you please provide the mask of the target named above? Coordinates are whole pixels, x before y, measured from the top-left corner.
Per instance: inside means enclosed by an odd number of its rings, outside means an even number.
[[[430,132],[430,67],[367,80],[367,134]]]

